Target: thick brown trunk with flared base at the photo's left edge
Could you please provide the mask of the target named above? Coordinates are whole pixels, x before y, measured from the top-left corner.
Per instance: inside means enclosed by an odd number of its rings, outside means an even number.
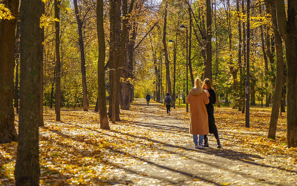
[[[13,91],[15,90],[15,25],[19,14],[19,1],[2,1],[14,19],[0,21],[0,143],[18,141],[15,130],[13,109]],[[2,3],[1,2],[1,3]]]

